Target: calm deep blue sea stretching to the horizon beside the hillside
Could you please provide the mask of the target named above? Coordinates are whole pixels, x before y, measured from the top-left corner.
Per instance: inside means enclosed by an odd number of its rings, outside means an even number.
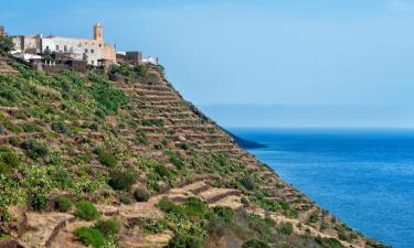
[[[251,153],[364,235],[414,247],[414,130],[230,129]]]

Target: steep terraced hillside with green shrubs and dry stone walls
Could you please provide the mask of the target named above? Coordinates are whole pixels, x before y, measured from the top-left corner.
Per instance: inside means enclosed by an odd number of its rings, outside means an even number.
[[[2,57],[0,106],[0,247],[385,247],[241,149],[162,67],[46,75]]]

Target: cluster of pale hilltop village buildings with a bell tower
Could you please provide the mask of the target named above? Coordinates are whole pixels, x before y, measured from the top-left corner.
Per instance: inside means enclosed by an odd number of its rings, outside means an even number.
[[[0,25],[0,35],[8,35],[2,25]],[[93,39],[43,36],[42,34],[8,36],[14,44],[11,54],[30,62],[40,71],[72,68],[84,73],[87,66],[109,68],[117,64],[158,65],[158,57],[142,57],[139,51],[116,51],[114,44],[104,41],[104,28],[100,23],[93,26]]]

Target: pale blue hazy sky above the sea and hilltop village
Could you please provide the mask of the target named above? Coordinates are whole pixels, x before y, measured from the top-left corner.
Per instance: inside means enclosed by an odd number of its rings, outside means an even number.
[[[283,126],[414,127],[412,0],[7,2],[0,23],[11,34],[91,36],[102,22],[118,50],[159,56],[184,97],[224,126],[253,126],[247,110],[243,123],[226,112],[254,105],[333,110],[315,120],[298,111]],[[358,115],[339,118],[343,108]]]

